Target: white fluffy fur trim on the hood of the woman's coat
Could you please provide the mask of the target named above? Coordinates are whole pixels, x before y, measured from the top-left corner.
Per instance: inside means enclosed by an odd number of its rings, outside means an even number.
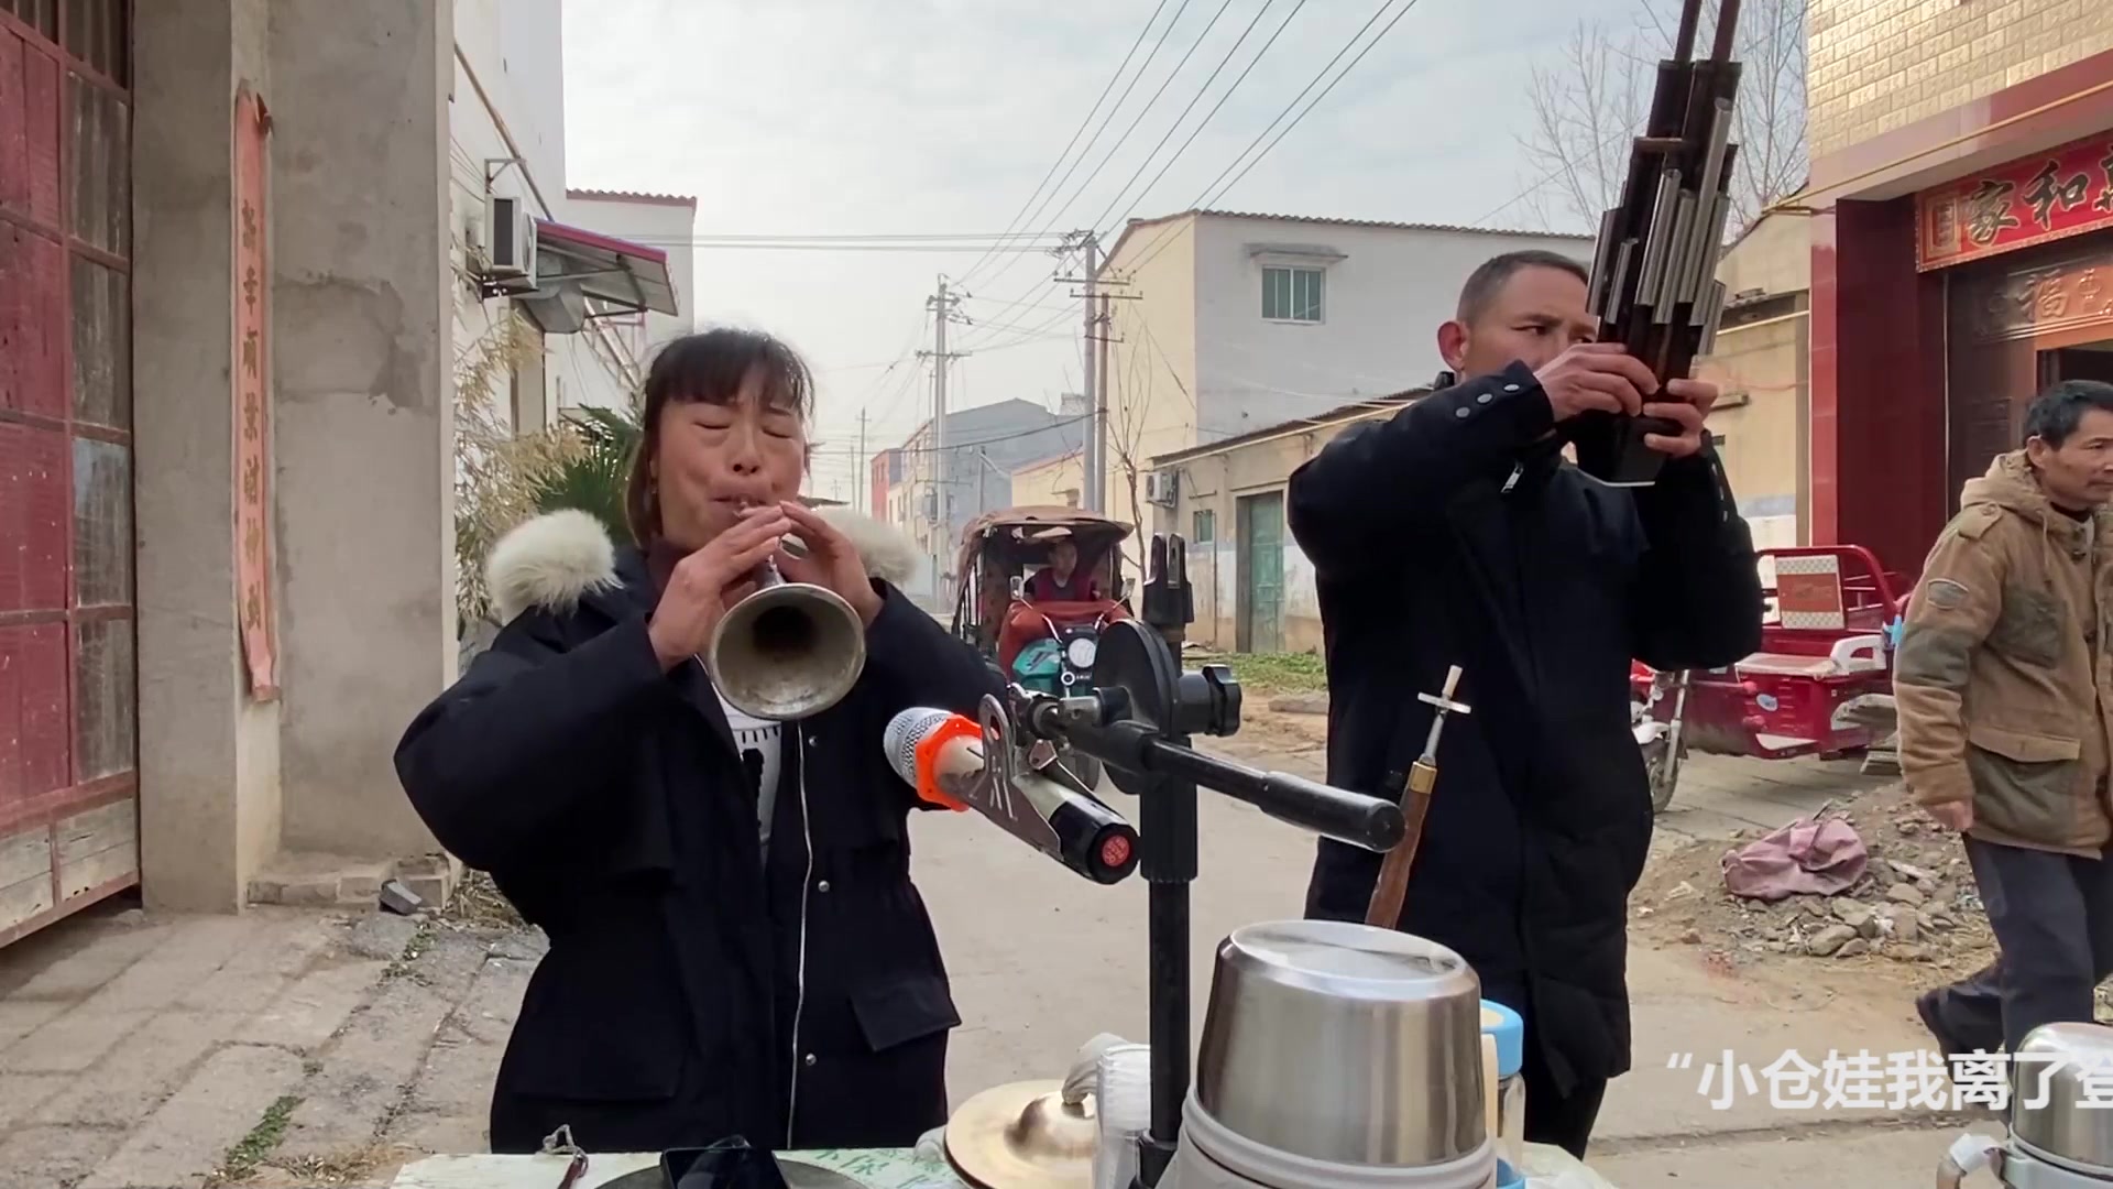
[[[816,514],[852,539],[868,575],[902,586],[917,571],[917,546],[892,525],[847,508],[818,508]],[[484,582],[501,624],[530,607],[571,611],[583,594],[619,584],[617,546],[587,512],[549,512],[499,537],[484,559]]]

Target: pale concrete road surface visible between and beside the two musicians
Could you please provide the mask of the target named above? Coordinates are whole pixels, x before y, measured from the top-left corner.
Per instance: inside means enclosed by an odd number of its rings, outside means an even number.
[[[1316,749],[1280,740],[1221,740],[1219,751],[1247,764],[1321,776]],[[1750,764],[1699,757],[1682,779],[1661,829],[1661,846],[1688,838],[1728,838],[1737,829],[1777,827],[1845,800],[1876,781],[1853,764]],[[1135,800],[1114,793],[1126,812]],[[1238,802],[1204,793],[1202,872],[1192,889],[1192,977],[1196,1018],[1211,980],[1217,941],[1238,925],[1297,916],[1312,840]],[[964,1026],[949,1062],[955,1098],[1018,1079],[1063,1077],[1078,1045],[1097,1032],[1145,1039],[1143,954],[1145,886],[1086,884],[1063,867],[991,838],[966,817],[919,819],[919,886],[940,925]],[[991,908],[991,891],[1006,906]],[[1029,939],[1023,944],[1023,939]],[[1817,982],[1824,977],[1826,982]],[[1897,984],[1809,963],[1779,969],[1712,967],[1701,950],[1629,954],[1633,1068],[1616,1079],[1600,1117],[1591,1164],[1631,1185],[1781,1189],[1855,1183],[1921,1189],[1961,1115],[1893,1106],[1893,1081],[1870,1079],[1876,1106],[1794,1109],[1769,1102],[1762,1075],[1785,1051],[1824,1071],[1811,1090],[1826,1102],[1826,1071],[1843,1098],[1855,1100],[1857,1066],[1828,1064],[1830,1051],[1868,1051],[1885,1071],[1893,1054],[1919,1054],[1929,1037]],[[1703,1066],[1733,1049],[1737,1073],[1754,1073],[1722,1100],[1722,1081],[1699,1090]],[[1680,1056],[1682,1068],[1667,1068]],[[1906,1060],[1906,1058],[1900,1058]],[[1906,1075],[1902,1085],[1921,1087]],[[1796,1102],[1798,1087],[1779,1083]],[[1902,1098],[1912,1098],[1902,1094]]]

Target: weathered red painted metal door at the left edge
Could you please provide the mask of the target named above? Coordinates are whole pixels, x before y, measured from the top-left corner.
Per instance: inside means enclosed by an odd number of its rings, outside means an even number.
[[[139,880],[129,59],[0,0],[0,944]]]

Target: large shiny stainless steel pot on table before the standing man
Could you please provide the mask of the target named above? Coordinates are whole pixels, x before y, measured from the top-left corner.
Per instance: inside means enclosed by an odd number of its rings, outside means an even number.
[[[1485,1142],[1481,982],[1452,950],[1367,925],[1285,920],[1217,948],[1196,1102],[1308,1159],[1428,1166]]]

